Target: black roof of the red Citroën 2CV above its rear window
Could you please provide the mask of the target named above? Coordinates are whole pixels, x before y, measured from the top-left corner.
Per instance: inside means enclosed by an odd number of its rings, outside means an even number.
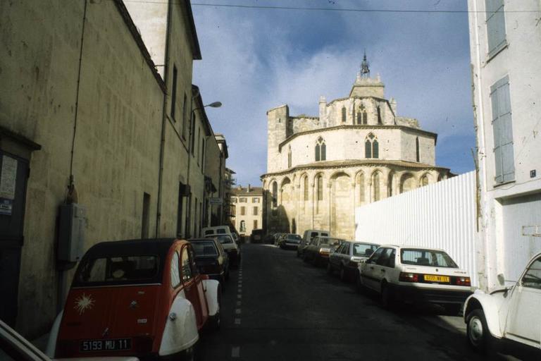
[[[158,255],[166,257],[171,245],[178,238],[114,240],[100,242],[87,250],[84,258],[114,257],[117,255]]]

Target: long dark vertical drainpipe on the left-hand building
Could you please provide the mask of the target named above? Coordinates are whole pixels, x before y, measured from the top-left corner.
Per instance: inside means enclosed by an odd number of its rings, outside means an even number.
[[[163,82],[166,84],[166,92],[163,94],[163,117],[161,121],[161,142],[160,142],[160,169],[158,171],[158,203],[156,209],[156,231],[154,236],[158,238],[160,221],[161,221],[161,191],[163,182],[163,153],[166,147],[166,123],[167,123],[167,79],[169,73],[169,37],[170,37],[170,20],[171,20],[171,2],[167,6],[167,23],[166,23],[166,59],[163,66]]]

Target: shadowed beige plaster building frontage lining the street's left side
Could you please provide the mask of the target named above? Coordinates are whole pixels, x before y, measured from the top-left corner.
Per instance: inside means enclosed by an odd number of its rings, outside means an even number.
[[[201,54],[189,1],[163,3],[0,4],[0,319],[25,336],[50,330],[73,277],[59,206],[82,207],[82,252],[200,228]]]

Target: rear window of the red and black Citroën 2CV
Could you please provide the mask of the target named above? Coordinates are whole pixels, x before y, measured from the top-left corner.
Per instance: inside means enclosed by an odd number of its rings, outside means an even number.
[[[123,256],[85,259],[81,262],[77,283],[140,283],[158,273],[156,256]]]

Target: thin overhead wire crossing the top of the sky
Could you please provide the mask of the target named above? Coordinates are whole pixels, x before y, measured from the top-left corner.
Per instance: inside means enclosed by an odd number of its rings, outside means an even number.
[[[168,4],[165,0],[124,0],[127,3],[144,4]],[[180,4],[173,1],[172,4]],[[213,4],[213,3],[192,3],[192,6],[209,6],[218,8],[248,8],[261,10],[296,10],[296,11],[340,11],[354,13],[488,13],[490,11],[468,11],[468,10],[408,10],[408,9],[370,9],[370,8],[313,8],[309,6],[271,6],[271,5],[242,5],[242,4]],[[512,10],[504,13],[540,13],[539,10]]]

